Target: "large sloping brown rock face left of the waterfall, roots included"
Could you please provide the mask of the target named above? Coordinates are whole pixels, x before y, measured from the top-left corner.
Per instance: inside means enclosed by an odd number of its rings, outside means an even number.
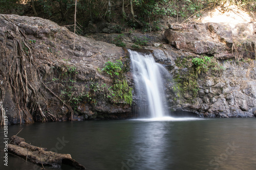
[[[131,117],[131,106],[110,94],[117,77],[101,71],[121,60],[122,79],[132,87],[121,47],[76,35],[74,49],[68,29],[18,15],[0,15],[0,46],[0,107],[9,124]]]

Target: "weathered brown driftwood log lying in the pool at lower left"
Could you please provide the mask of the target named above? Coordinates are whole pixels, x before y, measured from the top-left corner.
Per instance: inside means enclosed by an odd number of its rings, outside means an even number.
[[[29,151],[28,151],[29,150]],[[70,154],[58,154],[47,151],[47,148],[35,147],[27,142],[24,138],[12,136],[11,142],[8,144],[8,152],[28,159],[29,161],[52,167],[61,167],[61,164],[67,164],[77,169],[86,169],[83,165],[71,158]]]

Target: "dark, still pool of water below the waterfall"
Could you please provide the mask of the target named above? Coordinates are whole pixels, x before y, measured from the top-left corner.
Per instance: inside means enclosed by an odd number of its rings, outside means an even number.
[[[26,142],[71,154],[87,169],[247,170],[256,169],[255,121],[212,118],[38,123],[9,126],[9,136],[24,128],[18,136]],[[3,129],[0,130],[3,141]],[[0,147],[3,150],[3,142]],[[3,155],[1,152],[0,169],[40,169],[11,155],[8,167],[4,166]]]

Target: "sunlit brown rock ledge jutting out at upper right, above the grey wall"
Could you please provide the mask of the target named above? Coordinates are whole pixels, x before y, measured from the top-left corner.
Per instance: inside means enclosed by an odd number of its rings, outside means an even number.
[[[182,51],[214,55],[220,59],[255,58],[256,23],[170,24],[165,36],[169,44]]]

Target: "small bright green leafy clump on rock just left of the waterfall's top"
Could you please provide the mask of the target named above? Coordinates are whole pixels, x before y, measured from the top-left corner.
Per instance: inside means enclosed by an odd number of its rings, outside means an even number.
[[[104,67],[101,69],[101,71],[106,72],[107,74],[119,76],[120,72],[122,71],[123,64],[120,60],[116,60],[116,62],[108,61],[104,64]]]

